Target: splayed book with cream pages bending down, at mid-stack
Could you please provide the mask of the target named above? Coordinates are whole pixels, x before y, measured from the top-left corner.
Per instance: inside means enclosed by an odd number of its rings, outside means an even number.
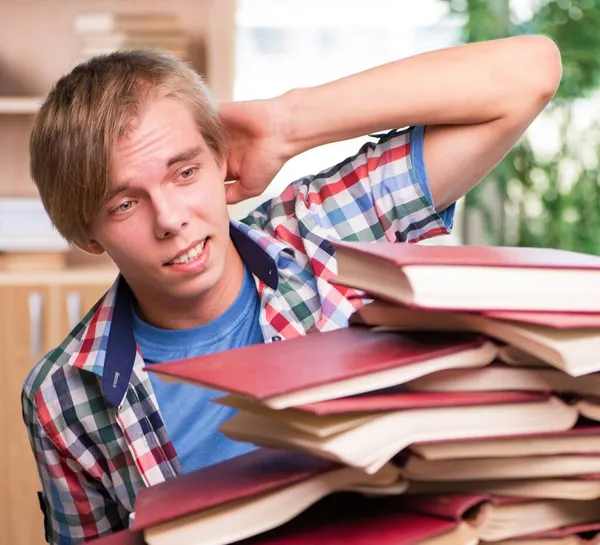
[[[557,397],[524,393],[518,399],[517,394],[507,394],[502,404],[478,399],[470,406],[392,410],[370,417],[301,411],[282,416],[281,410],[248,403],[219,429],[237,441],[303,450],[374,473],[412,443],[567,430],[578,418],[577,410]]]

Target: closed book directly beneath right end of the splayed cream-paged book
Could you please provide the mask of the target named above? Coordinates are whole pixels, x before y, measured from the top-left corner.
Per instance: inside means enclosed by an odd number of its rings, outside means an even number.
[[[426,460],[600,454],[600,426],[576,426],[548,434],[414,443],[410,449]]]

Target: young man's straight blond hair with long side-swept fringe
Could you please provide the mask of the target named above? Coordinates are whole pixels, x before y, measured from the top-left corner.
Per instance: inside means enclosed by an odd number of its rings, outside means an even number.
[[[117,140],[148,101],[186,105],[206,144],[222,159],[225,130],[202,78],[185,62],[156,51],[94,57],[59,79],[34,121],[30,171],[59,233],[83,245],[104,202]]]

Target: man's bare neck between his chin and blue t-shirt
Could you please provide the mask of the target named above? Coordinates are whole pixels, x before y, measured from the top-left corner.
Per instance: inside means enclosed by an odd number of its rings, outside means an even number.
[[[160,297],[152,296],[147,301],[137,300],[136,312],[146,323],[161,329],[198,327],[221,316],[234,303],[243,282],[244,264],[230,241],[223,275],[208,292],[196,299],[161,301]]]

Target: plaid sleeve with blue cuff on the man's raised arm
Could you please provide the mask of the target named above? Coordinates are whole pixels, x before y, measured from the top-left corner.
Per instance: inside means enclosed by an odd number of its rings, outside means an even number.
[[[454,205],[432,204],[423,157],[424,127],[373,135],[358,153],[306,176],[245,223],[295,241],[418,242],[447,234]]]

